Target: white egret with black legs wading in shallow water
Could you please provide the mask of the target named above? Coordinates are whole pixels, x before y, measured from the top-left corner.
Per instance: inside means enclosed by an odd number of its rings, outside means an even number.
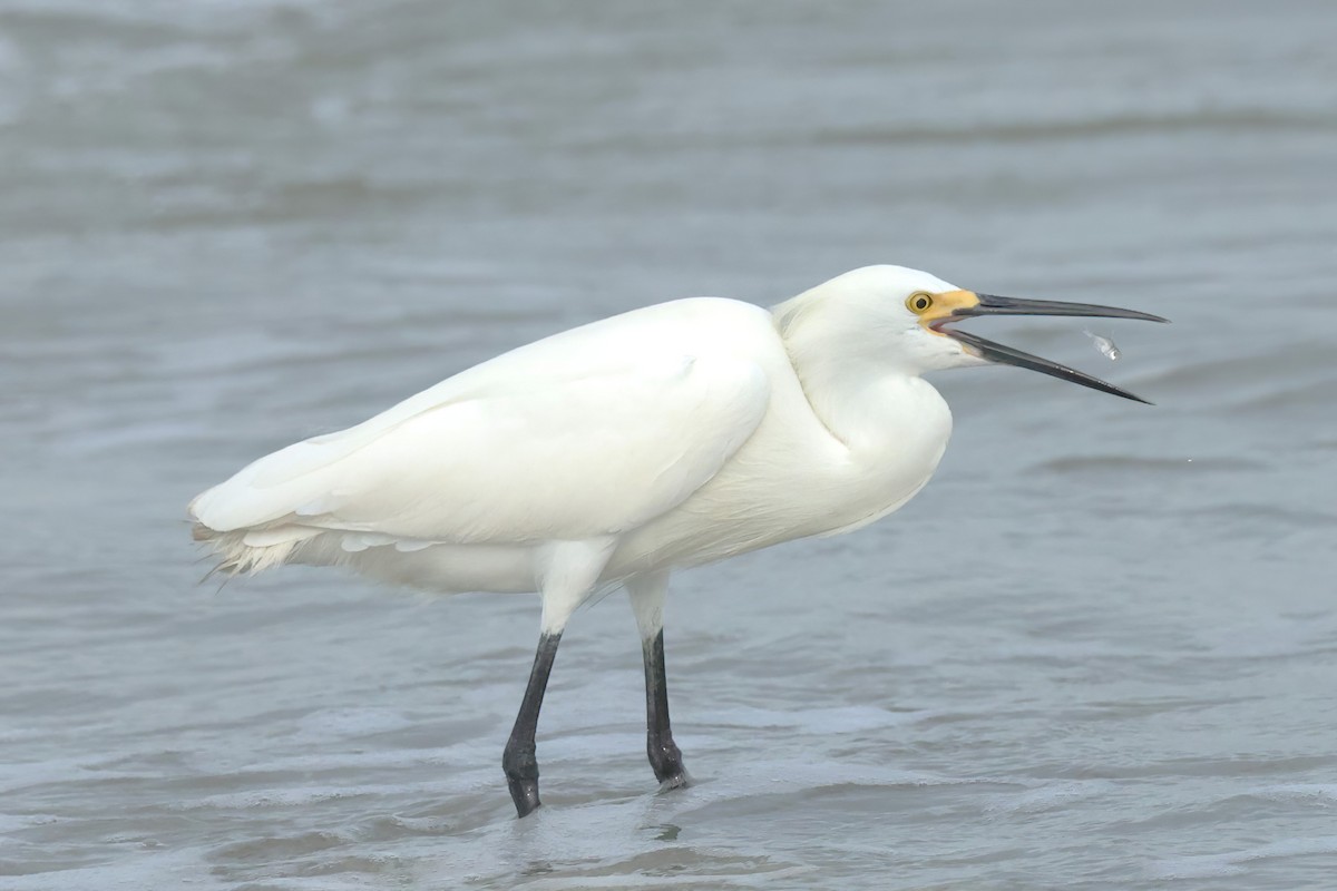
[[[846,273],[771,310],[647,306],[259,458],[190,504],[195,538],[225,573],[295,562],[444,593],[536,592],[537,653],[503,757],[520,816],[540,803],[535,728],[567,620],[624,586],[650,763],[663,788],[683,785],[664,685],[671,572],[850,532],[909,501],[952,431],[925,371],[1003,362],[1143,401],[948,327],[1017,314],[1165,321],[977,294],[898,266]]]

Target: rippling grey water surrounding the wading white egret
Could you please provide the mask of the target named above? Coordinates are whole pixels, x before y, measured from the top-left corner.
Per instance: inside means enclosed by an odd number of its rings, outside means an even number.
[[[1337,887],[1337,7],[0,3],[0,888]],[[185,504],[511,346],[894,262],[937,478],[576,616],[218,590]]]

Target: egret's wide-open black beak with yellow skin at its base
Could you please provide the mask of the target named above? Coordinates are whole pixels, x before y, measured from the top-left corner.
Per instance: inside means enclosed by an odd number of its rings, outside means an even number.
[[[1082,386],[1091,387],[1092,390],[1100,390],[1102,393],[1122,395],[1124,399],[1134,399],[1136,402],[1146,402],[1147,405],[1151,405],[1139,395],[1134,395],[1127,390],[1119,389],[1112,383],[1106,383],[1100,378],[1091,377],[1090,374],[1084,374],[1076,369],[1070,369],[1066,365],[1042,359],[1038,355],[1031,355],[1029,353],[1023,353],[1021,350],[1013,350],[1009,346],[1003,346],[1001,343],[995,343],[993,341],[985,341],[983,337],[976,334],[968,334],[967,331],[957,331],[956,329],[947,327],[952,322],[973,318],[976,315],[1086,315],[1110,319],[1143,319],[1147,322],[1166,322],[1169,319],[1163,319],[1159,315],[1151,315],[1150,313],[1122,310],[1116,306],[1064,303],[1062,301],[1028,301],[1016,297],[977,294],[975,291],[947,291],[945,294],[933,295],[933,306],[924,313],[921,319],[929,330],[960,341],[971,353],[975,353],[981,359],[1016,365],[1017,367],[1031,369],[1032,371],[1048,374],[1063,381],[1080,383]]]

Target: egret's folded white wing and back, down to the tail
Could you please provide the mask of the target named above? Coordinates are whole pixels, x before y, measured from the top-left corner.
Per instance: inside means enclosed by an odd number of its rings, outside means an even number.
[[[758,354],[782,355],[770,315],[737,301],[674,301],[571,329],[259,458],[191,502],[195,534],[230,572],[299,552],[356,564],[350,554],[376,548],[623,534],[751,435],[770,387]]]

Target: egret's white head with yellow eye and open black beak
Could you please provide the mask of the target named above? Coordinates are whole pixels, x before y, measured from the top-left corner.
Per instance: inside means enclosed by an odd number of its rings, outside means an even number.
[[[904,266],[865,266],[775,307],[775,323],[798,359],[866,359],[908,374],[1003,363],[1031,369],[1126,399],[1127,390],[1076,369],[960,331],[955,323],[979,315],[1083,315],[1165,322],[1159,315],[1094,303],[1031,301],[965,291],[936,275]],[[808,354],[806,357],[804,354]]]

